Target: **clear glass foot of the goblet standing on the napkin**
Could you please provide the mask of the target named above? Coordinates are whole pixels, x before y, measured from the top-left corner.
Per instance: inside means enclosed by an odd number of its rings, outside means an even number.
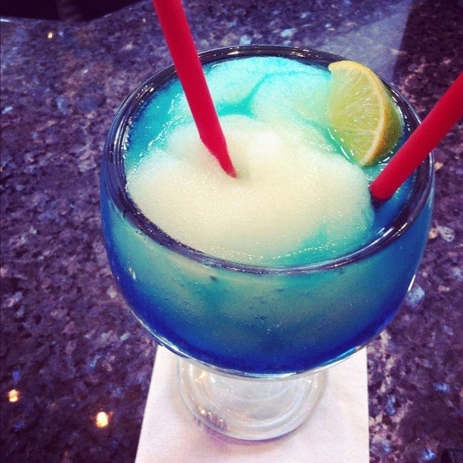
[[[180,391],[199,421],[236,439],[272,439],[295,430],[311,415],[327,373],[284,380],[247,379],[212,373],[179,360]]]

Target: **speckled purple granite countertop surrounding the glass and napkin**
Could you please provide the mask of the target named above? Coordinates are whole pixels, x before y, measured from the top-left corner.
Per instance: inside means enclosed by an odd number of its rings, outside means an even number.
[[[184,4],[200,51],[338,53],[392,80],[422,116],[463,68],[461,1]],[[2,461],[135,458],[155,343],[110,274],[98,173],[118,105],[168,63],[149,1],[87,23],[1,21]],[[412,292],[368,348],[372,462],[437,462],[463,447],[461,153],[460,125],[435,150]]]

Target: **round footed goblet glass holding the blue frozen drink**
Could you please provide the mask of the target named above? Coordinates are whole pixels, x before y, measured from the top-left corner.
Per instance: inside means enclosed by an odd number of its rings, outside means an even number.
[[[283,56],[323,67],[343,59],[280,46],[222,48],[200,58],[205,64],[246,56]],[[135,316],[182,359],[180,386],[194,415],[232,437],[277,437],[310,415],[326,368],[362,348],[400,307],[430,226],[432,157],[407,182],[407,199],[387,227],[348,254],[274,267],[218,259],[168,236],[126,189],[131,125],[173,79],[170,66],[146,80],[111,125],[100,184],[108,260]],[[403,142],[419,120],[387,88],[402,113]],[[387,211],[385,204],[377,207],[379,214],[383,207]]]

